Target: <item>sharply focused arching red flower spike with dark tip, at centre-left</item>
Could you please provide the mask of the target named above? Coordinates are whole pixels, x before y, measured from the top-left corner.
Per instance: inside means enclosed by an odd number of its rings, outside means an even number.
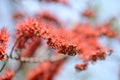
[[[39,37],[47,40],[47,44],[60,53],[68,55],[76,54],[75,45],[65,38],[67,37],[65,36],[67,30],[54,28],[50,25],[43,25],[35,19],[28,19],[21,24],[17,24],[16,29],[16,36],[19,38],[19,36],[22,35],[18,41],[17,48],[23,48],[25,43],[32,37]],[[62,34],[62,31],[64,31],[65,34]],[[68,36],[68,38],[70,38],[70,36]]]

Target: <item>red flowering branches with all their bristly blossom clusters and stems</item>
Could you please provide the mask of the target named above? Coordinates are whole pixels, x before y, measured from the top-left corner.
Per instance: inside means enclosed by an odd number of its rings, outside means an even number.
[[[54,2],[71,7],[67,0],[38,0],[38,2],[48,4]],[[86,70],[89,64],[98,60],[105,60],[113,49],[105,48],[99,43],[98,38],[117,37],[117,33],[111,28],[113,21],[109,20],[103,24],[97,24],[95,21],[93,25],[91,19],[96,18],[96,14],[91,7],[85,9],[81,16],[87,21],[76,23],[71,29],[66,29],[62,20],[49,10],[35,13],[31,18],[24,14],[24,11],[13,13],[12,19],[16,21],[16,25],[13,46],[9,54],[6,50],[11,35],[6,28],[0,29],[0,60],[3,61],[0,71],[6,69],[6,63],[10,59],[17,63],[14,69],[4,71],[0,80],[17,79],[16,74],[20,75],[19,71],[25,73],[25,80],[53,80],[69,56],[76,56],[82,60],[75,65],[78,71]],[[46,52],[37,53],[39,48],[45,49]],[[31,67],[26,63],[36,65]]]

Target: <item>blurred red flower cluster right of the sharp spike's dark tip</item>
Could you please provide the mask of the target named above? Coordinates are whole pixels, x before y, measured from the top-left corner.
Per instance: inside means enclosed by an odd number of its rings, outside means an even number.
[[[110,27],[107,27],[107,30],[103,33],[101,29],[106,30],[105,27],[90,27],[89,24],[80,24],[74,27],[74,33],[79,34],[79,44],[77,45],[78,56],[83,59],[84,62],[92,61],[95,62],[98,59],[105,59],[107,51],[99,44],[97,38],[105,35],[108,37],[114,37],[115,33]],[[106,34],[105,34],[106,33]],[[111,35],[108,35],[111,34]],[[110,49],[110,53],[111,53]],[[86,64],[86,63],[85,63]],[[76,68],[84,67],[82,64],[76,65]],[[85,66],[86,68],[86,66]]]

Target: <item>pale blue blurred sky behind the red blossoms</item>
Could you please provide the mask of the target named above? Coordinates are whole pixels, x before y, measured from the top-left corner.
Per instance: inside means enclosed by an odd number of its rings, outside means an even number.
[[[60,1],[60,2],[59,2]],[[94,11],[95,16],[83,17],[86,9]],[[104,23],[111,19],[111,27],[120,33],[120,1],[119,0],[0,0],[0,27],[7,27],[14,37],[14,26],[17,22],[27,17],[51,14],[55,17],[54,25],[71,29],[73,25],[87,22],[90,24]],[[47,14],[46,14],[47,15]],[[9,43],[9,51],[13,45],[13,39]],[[74,66],[79,59],[70,57],[57,74],[55,80],[120,80],[120,39],[108,39],[101,37],[98,41],[107,48],[113,48],[113,54],[104,61],[90,64],[88,69],[82,72],[76,71]],[[40,49],[43,50],[43,49]],[[42,52],[42,51],[41,51]],[[14,63],[13,63],[14,64]],[[11,63],[9,63],[12,66]],[[21,76],[23,76],[21,74]],[[19,79],[23,79],[18,76]]]

